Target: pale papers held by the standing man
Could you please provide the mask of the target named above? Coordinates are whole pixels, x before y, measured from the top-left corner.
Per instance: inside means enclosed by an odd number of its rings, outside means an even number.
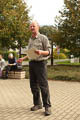
[[[40,56],[35,53],[36,50],[37,50],[36,48],[31,48],[27,50],[27,56],[30,60],[36,60]]]

